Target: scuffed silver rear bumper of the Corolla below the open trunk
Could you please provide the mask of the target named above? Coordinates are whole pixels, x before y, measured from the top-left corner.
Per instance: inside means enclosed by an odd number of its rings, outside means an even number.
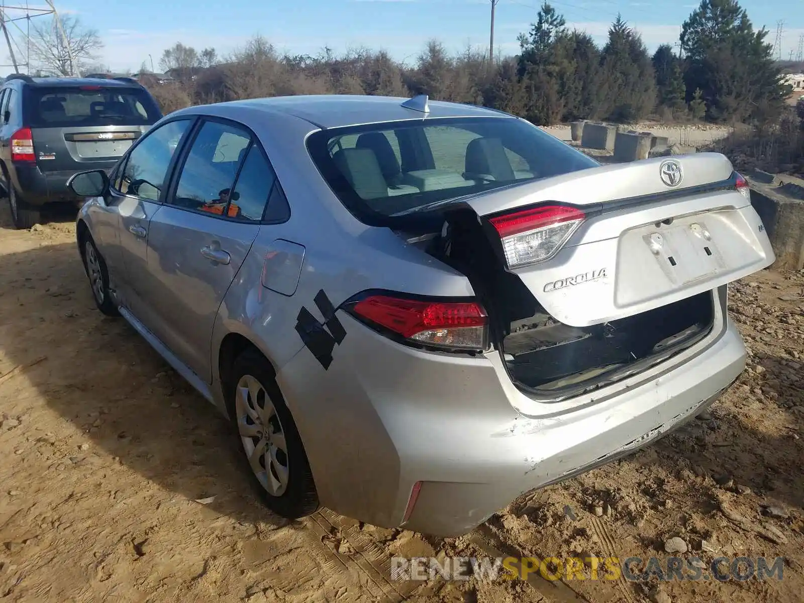
[[[368,523],[445,536],[470,531],[523,492],[662,436],[745,367],[736,326],[721,320],[671,370],[574,406],[535,404],[513,387],[496,352],[473,359],[416,351],[342,320],[347,338],[327,371],[304,348],[277,375],[319,498]]]

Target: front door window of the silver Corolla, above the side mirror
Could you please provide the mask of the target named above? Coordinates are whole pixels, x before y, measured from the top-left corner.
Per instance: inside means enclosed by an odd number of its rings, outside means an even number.
[[[170,159],[190,124],[189,119],[169,121],[147,133],[131,150],[125,162],[119,185],[121,193],[158,201]]]

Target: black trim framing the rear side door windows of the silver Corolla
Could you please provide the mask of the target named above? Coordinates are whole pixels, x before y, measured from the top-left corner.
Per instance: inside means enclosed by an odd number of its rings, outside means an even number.
[[[285,222],[287,222],[290,219],[290,216],[293,215],[293,209],[292,207],[290,207],[290,202],[287,200],[288,198],[287,195],[285,195],[285,189],[282,188],[281,183],[279,182],[279,175],[277,174],[277,170],[273,168],[273,163],[271,163],[271,159],[269,158],[268,153],[265,152],[265,148],[262,146],[262,143],[260,142],[260,137],[256,135],[254,130],[249,128],[248,125],[245,125],[241,121],[229,119],[228,117],[219,117],[217,115],[198,115],[195,117],[199,117],[199,119],[193,126],[191,136],[187,138],[187,143],[183,146],[181,154],[177,159],[177,163],[173,168],[173,172],[170,175],[170,183],[166,187],[166,199],[172,199],[175,196],[176,189],[178,188],[178,181],[181,179],[182,170],[184,169],[184,165],[187,162],[187,157],[189,156],[193,143],[195,142],[195,138],[198,137],[198,134],[203,128],[203,125],[208,121],[215,122],[223,125],[229,125],[233,128],[242,129],[244,130],[245,133],[248,133],[249,136],[248,145],[245,146],[246,152],[243,155],[243,160],[238,164],[237,170],[235,172],[235,178],[232,181],[232,189],[231,189],[232,191],[235,191],[237,181],[240,179],[240,171],[243,170],[244,163],[252,147],[256,146],[257,150],[259,150],[260,154],[262,154],[262,158],[265,159],[265,163],[268,165],[269,170],[273,172],[273,186],[269,188],[268,195],[265,198],[265,206],[263,207],[262,210],[262,216],[260,217],[259,220],[256,220],[256,219],[242,219],[226,215],[229,209],[228,203],[224,208],[223,214],[220,215],[211,214],[209,211],[201,211],[198,209],[193,209],[192,207],[181,207],[178,205],[174,205],[173,203],[167,203],[166,200],[163,200],[162,204],[165,205],[166,207],[173,207],[174,209],[178,209],[181,211],[189,211],[190,213],[203,215],[211,219],[222,219],[227,222],[233,222],[235,224],[269,224],[269,225],[285,224]],[[279,187],[279,190],[282,196],[285,197],[285,202],[288,204],[289,208],[287,219],[283,219],[281,221],[265,219],[265,213],[268,211],[268,206],[271,200],[271,196],[273,195],[274,187]],[[232,203],[231,199],[229,200],[229,203]]]

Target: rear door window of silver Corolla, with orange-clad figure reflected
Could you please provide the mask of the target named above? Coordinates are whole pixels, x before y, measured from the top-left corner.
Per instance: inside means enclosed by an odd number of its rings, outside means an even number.
[[[244,129],[207,121],[192,142],[170,204],[230,218],[240,217],[240,192],[232,194],[232,187],[250,142],[251,135]]]

